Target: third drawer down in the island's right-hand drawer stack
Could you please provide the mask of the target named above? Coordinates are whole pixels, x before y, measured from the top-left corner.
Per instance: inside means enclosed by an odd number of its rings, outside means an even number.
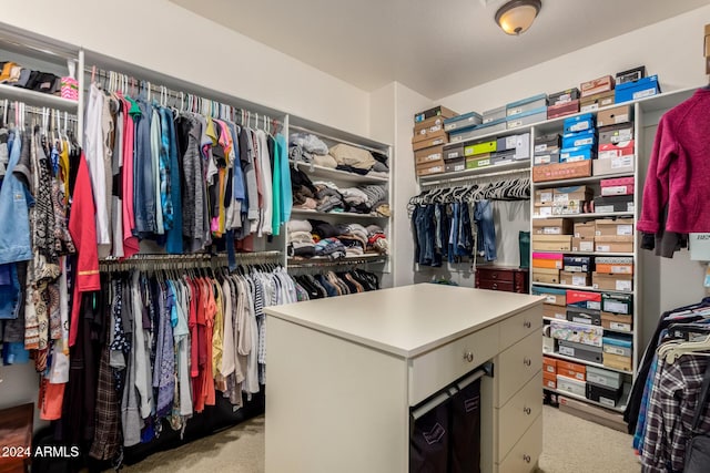
[[[542,412],[542,371],[528,381],[498,412],[498,459],[506,457],[530,424]]]

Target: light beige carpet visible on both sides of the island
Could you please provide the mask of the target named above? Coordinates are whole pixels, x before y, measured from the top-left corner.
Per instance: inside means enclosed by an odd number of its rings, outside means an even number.
[[[544,410],[544,473],[638,473],[631,438],[557,409]],[[264,471],[264,418],[258,417],[178,449],[155,453],[125,473]],[[484,472],[485,473],[485,472]],[[506,472],[501,472],[506,473]]]

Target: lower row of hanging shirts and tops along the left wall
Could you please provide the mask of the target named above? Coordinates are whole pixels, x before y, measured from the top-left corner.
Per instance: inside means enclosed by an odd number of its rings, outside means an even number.
[[[71,364],[50,358],[39,402],[58,440],[98,460],[184,429],[217,395],[243,405],[265,382],[263,308],[297,300],[270,265],[108,273],[101,284],[83,300]]]

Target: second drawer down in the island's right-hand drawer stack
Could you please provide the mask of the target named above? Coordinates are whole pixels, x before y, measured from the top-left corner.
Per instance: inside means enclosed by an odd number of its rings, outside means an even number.
[[[542,369],[540,332],[536,330],[498,357],[498,402],[501,408],[516,392]]]

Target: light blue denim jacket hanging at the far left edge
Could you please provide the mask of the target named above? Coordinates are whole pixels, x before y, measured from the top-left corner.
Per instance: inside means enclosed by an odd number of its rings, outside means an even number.
[[[8,140],[10,161],[0,187],[0,222],[6,224],[0,232],[0,264],[32,259],[29,208],[34,199],[12,172],[20,160],[21,143],[18,131],[11,133]]]

